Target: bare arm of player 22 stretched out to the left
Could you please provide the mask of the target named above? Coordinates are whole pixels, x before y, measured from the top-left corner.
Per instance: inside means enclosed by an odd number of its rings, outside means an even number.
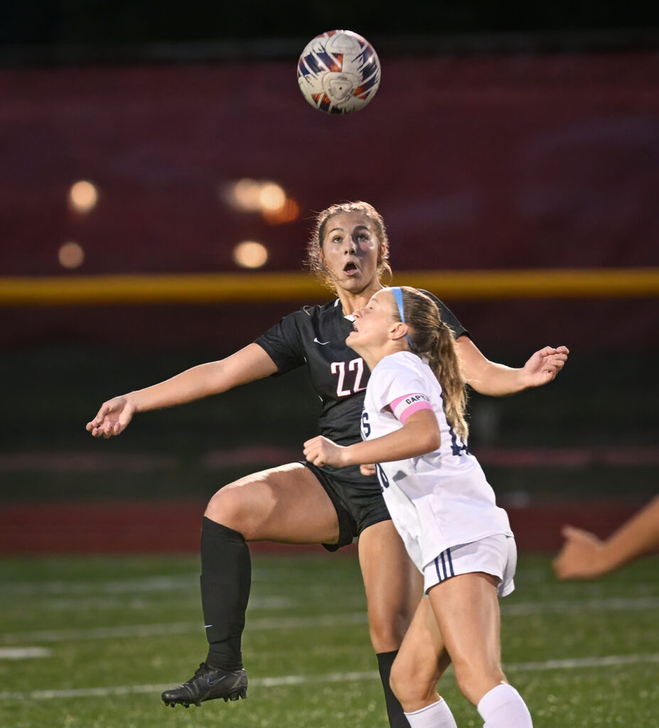
[[[87,432],[95,438],[111,438],[126,429],[135,412],[200,400],[276,371],[277,365],[264,349],[259,344],[249,344],[226,359],[200,364],[152,387],[104,402],[95,418],[87,422]]]

